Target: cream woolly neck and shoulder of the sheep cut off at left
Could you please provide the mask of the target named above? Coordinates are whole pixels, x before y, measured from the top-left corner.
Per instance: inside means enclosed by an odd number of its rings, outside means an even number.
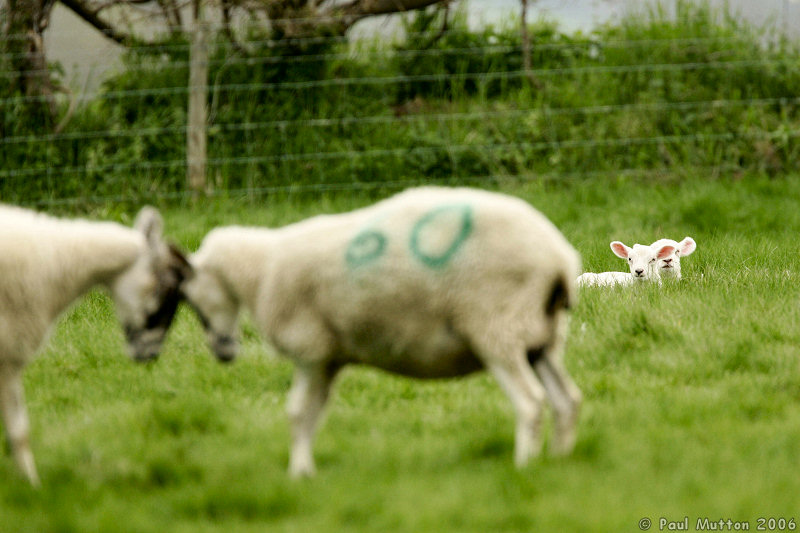
[[[141,233],[0,206],[0,357],[26,363],[52,322],[89,288],[129,266]]]

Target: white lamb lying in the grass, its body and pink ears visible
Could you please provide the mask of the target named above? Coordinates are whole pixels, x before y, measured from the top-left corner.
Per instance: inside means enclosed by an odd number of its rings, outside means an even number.
[[[633,248],[625,246],[619,241],[613,241],[611,251],[621,258],[627,259],[630,272],[585,272],[578,276],[577,283],[581,287],[586,286],[608,286],[608,285],[633,285],[643,281],[651,281],[660,284],[661,277],[658,273],[657,261],[674,255],[675,246],[671,244],[661,244],[656,246],[634,244]]]

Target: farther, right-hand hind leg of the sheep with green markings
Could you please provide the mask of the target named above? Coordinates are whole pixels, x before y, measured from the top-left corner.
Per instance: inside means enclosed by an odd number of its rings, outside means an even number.
[[[555,433],[550,452],[566,455],[575,447],[581,392],[557,358],[542,357],[534,365],[553,408]]]

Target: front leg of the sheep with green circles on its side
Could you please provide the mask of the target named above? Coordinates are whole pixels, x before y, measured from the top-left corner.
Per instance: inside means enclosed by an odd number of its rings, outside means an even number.
[[[335,375],[336,369],[327,364],[297,365],[295,368],[287,404],[292,431],[289,452],[289,474],[292,477],[314,475],[314,433]]]

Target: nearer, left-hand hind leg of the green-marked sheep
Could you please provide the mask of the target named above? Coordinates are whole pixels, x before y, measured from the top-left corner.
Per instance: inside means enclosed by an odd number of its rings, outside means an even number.
[[[514,463],[517,467],[523,467],[542,449],[544,387],[522,355],[513,359],[493,360],[487,366],[514,405],[517,416]]]

